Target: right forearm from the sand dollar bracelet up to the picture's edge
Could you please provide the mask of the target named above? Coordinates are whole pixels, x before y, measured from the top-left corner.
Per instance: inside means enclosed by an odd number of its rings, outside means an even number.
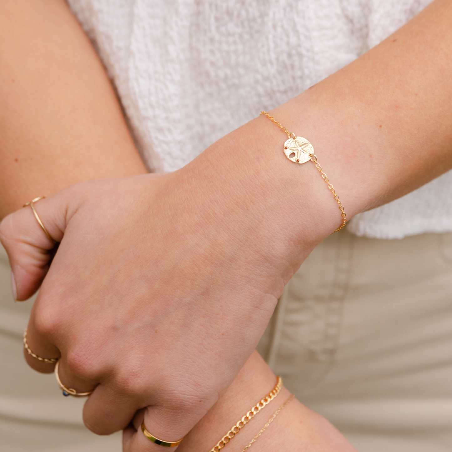
[[[358,60],[273,110],[312,142],[351,215],[452,168],[451,23],[452,3],[436,0]],[[260,122],[281,137],[265,118]]]

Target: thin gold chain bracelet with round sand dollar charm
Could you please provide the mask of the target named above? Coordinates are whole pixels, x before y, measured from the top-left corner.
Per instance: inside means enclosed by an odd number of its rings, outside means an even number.
[[[326,177],[326,174],[323,172],[322,167],[317,161],[317,157],[314,154],[314,148],[312,147],[311,143],[307,141],[306,138],[296,137],[295,133],[289,132],[286,127],[282,126],[280,122],[273,118],[273,116],[270,116],[267,112],[262,111],[260,112],[260,114],[266,116],[271,122],[274,122],[280,129],[286,132],[289,139],[284,143],[283,151],[290,161],[299,163],[301,165],[311,160],[311,162],[315,164],[317,170],[319,170],[322,174],[323,180],[328,184],[328,188],[330,189],[331,193],[333,193],[334,199],[339,204],[339,209],[342,217],[342,225],[339,226],[334,232],[343,229],[345,227],[345,224],[347,223],[347,214],[344,212],[344,206],[340,202],[339,196],[336,194],[333,185],[330,184],[329,179]]]

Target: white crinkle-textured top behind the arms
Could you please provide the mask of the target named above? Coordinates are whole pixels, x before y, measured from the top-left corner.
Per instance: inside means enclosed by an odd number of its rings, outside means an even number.
[[[431,0],[69,0],[150,170],[173,171],[381,42]],[[452,172],[348,225],[452,231]]]

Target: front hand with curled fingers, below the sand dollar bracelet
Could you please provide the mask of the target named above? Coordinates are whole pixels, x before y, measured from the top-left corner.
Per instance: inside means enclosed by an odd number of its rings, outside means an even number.
[[[262,201],[284,191],[284,176],[263,175],[263,191],[247,182],[245,166],[226,184],[208,164],[212,152],[176,173],[75,184],[35,206],[61,244],[33,306],[28,344],[39,356],[61,356],[66,386],[95,388],[84,409],[95,433],[126,428],[146,406],[156,437],[188,433],[249,358],[314,246],[280,229],[290,206]],[[211,171],[201,174],[201,166]],[[340,223],[334,213],[320,233]],[[53,245],[30,208],[6,217],[0,234],[25,299],[46,274]]]

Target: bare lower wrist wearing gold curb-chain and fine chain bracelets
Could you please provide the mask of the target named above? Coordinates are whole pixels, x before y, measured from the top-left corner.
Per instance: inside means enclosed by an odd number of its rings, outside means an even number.
[[[268,365],[253,352],[226,392],[199,421],[180,444],[179,452],[210,451],[242,416],[263,399],[275,386],[276,377]],[[289,400],[290,391],[282,387],[279,394],[243,427],[227,445],[229,452],[241,452],[264,427],[273,414]],[[139,412],[123,436],[124,450],[131,449],[134,433],[141,439]],[[227,440],[226,440],[227,441]],[[145,443],[146,444],[146,443]],[[344,436],[325,418],[291,400],[256,439],[251,450],[356,452]]]

